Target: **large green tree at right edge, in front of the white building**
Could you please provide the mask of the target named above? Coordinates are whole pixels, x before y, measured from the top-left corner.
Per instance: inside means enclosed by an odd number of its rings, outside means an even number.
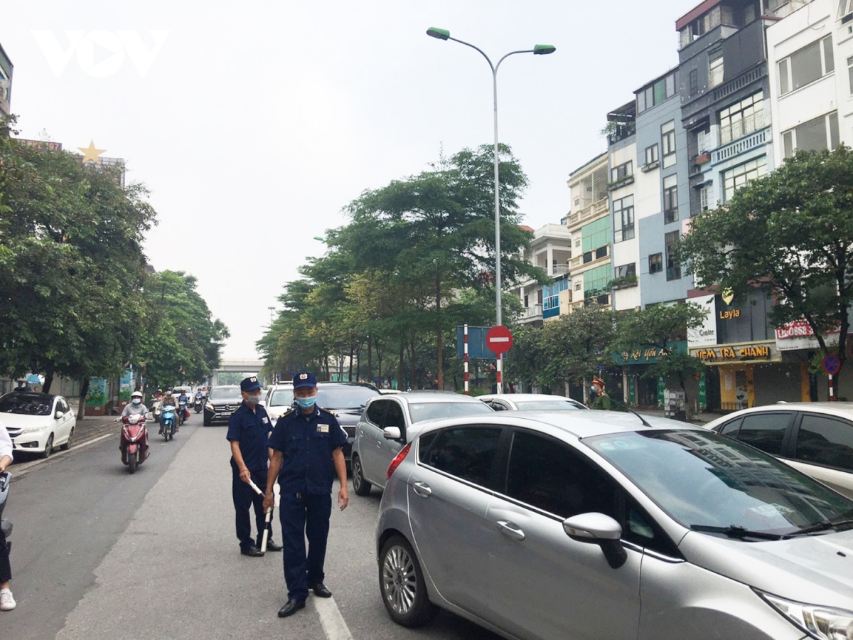
[[[706,285],[769,292],[770,321],[805,319],[820,355],[836,352],[843,369],[853,304],[853,151],[798,151],[724,206],[692,218],[678,255]],[[829,346],[839,329],[838,346]]]

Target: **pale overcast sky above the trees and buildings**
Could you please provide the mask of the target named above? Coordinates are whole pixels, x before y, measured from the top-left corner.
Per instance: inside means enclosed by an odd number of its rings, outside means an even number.
[[[525,224],[559,223],[570,172],[606,150],[606,113],[678,62],[676,19],[699,0],[7,0],[20,136],[124,158],[151,189],[145,251],[186,271],[254,358],[269,307],[314,236],[363,189],[428,168],[498,126],[530,178]]]

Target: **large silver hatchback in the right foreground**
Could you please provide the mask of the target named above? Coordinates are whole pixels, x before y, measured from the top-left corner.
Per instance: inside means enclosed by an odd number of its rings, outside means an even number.
[[[508,638],[853,639],[853,501],[703,428],[611,411],[433,423],[376,531],[397,623]]]

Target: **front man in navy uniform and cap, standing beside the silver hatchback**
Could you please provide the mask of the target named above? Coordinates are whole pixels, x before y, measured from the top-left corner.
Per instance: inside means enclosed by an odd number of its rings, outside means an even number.
[[[287,602],[280,618],[305,607],[308,591],[322,598],[332,596],[323,585],[328,519],[332,515],[332,483],[338,475],[338,506],[346,509],[349,493],[346,464],[341,447],[346,432],[333,414],[316,406],[314,374],[293,376],[297,410],[281,416],[270,435],[270,474],[264,509],[273,503],[272,489],[278,475],[281,489],[281,536],[284,543],[284,579]],[[308,554],[305,555],[305,537]]]

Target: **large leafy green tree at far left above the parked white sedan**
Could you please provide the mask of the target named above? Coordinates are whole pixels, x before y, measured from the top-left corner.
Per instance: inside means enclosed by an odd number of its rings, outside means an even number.
[[[0,127],[0,370],[117,375],[142,312],[142,238],[154,209],[121,167],[83,166]]]

